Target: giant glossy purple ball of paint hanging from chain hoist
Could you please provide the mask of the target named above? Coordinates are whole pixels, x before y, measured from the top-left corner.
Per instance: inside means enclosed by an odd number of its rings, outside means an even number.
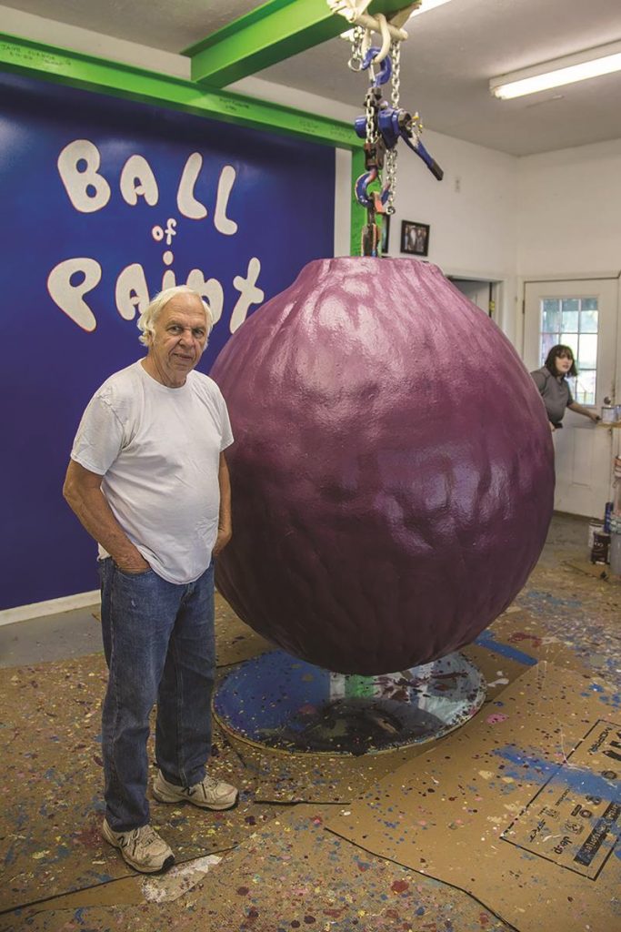
[[[552,514],[547,416],[438,267],[311,262],[211,376],[236,438],[216,580],[255,631],[334,671],[393,672],[470,643],[520,592]]]

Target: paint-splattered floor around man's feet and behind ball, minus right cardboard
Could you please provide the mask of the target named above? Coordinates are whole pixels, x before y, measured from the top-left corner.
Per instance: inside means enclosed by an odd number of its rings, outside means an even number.
[[[229,663],[264,649],[249,629],[225,610],[221,614],[219,643]],[[0,628],[0,666],[9,667],[0,706],[8,777],[3,776],[0,826],[2,932],[511,927],[460,890],[370,855],[324,828],[407,760],[403,751],[392,760],[275,758],[220,734],[216,763],[239,781],[239,808],[215,818],[187,812],[189,807],[154,807],[155,821],[184,863],[160,879],[145,880],[126,869],[98,835],[101,767],[95,758],[104,666],[95,652],[97,628],[90,611]],[[473,650],[500,651],[492,655],[497,669],[490,670],[498,679],[492,696],[526,668],[530,656],[582,665],[616,684],[616,692],[604,698],[618,708],[620,634],[621,580],[588,563],[587,521],[558,515],[529,583],[485,635],[483,647]],[[17,702],[7,698],[18,695]],[[17,723],[25,723],[25,738],[16,735]],[[621,925],[618,914],[611,915],[606,932],[615,922]],[[546,932],[556,928],[551,915]],[[583,921],[574,929],[604,932]],[[563,932],[574,929],[563,926]]]

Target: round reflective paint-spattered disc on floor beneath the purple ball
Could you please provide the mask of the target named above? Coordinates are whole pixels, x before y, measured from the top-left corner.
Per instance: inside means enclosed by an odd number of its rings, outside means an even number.
[[[373,754],[433,741],[459,728],[485,698],[479,669],[455,651],[399,673],[331,673],[270,651],[236,665],[217,686],[223,729],[293,753]]]

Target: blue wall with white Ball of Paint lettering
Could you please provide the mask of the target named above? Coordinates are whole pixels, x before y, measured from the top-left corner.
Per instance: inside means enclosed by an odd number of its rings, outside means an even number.
[[[62,480],[88,399],[144,353],[148,295],[205,295],[209,371],[263,300],[333,254],[333,188],[330,147],[0,76],[0,609],[98,585]]]

